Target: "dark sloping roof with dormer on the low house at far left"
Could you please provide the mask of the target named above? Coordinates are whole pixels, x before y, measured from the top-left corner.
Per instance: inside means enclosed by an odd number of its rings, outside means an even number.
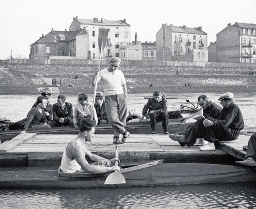
[[[59,30],[52,30],[45,36],[40,37],[36,42],[31,44],[30,46],[36,44],[36,43],[56,43],[57,41],[70,41],[76,36],[85,35],[88,34],[86,31],[80,29],[78,31],[59,31]],[[63,40],[63,38],[65,39]],[[62,39],[61,39],[62,38]]]

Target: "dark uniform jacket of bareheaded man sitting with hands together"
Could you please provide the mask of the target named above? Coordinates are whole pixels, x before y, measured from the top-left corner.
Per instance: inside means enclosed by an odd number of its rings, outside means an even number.
[[[64,123],[70,121],[73,119],[73,109],[72,104],[65,102],[64,110],[61,109],[61,107],[58,106],[57,103],[55,103],[52,106],[52,115],[54,121],[60,121],[61,117],[64,117]]]

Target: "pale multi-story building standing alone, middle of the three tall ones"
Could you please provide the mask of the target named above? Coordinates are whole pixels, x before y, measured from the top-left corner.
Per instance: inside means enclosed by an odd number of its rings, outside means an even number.
[[[207,34],[202,27],[162,24],[156,34],[156,53],[157,60],[207,62]]]

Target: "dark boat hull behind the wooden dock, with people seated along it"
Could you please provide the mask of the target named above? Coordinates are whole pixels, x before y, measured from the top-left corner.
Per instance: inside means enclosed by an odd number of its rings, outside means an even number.
[[[170,133],[174,132],[182,132],[190,125],[191,123],[182,123],[182,121],[186,118],[176,118],[176,119],[169,119],[168,128]],[[151,127],[150,122],[135,122],[135,123],[126,123],[126,130],[131,133],[150,133]],[[20,134],[21,130],[12,130],[12,131],[5,131],[0,133],[0,141],[4,142],[6,140],[10,140],[13,137]],[[50,128],[44,130],[34,130],[34,131],[27,131],[27,132],[36,132],[38,134],[78,134],[79,131],[76,130],[74,127],[62,127],[62,128]],[[107,125],[97,125],[95,128],[96,134],[113,134],[113,128],[109,124]],[[162,128],[162,122],[158,122],[156,124],[156,133],[164,133]]]

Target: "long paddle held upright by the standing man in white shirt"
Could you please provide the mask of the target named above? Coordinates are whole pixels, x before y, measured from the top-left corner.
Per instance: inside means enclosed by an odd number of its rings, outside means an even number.
[[[100,68],[101,52],[102,50],[104,50],[108,40],[108,31],[109,31],[108,28],[99,28],[98,45],[100,49],[100,58],[99,58],[98,68]],[[97,92],[97,81],[98,81],[98,73],[96,74],[96,84],[95,84],[94,93],[93,93],[92,107],[94,107],[94,103],[95,103],[95,97]],[[94,108],[92,108],[92,111],[91,111],[91,119],[93,118],[93,110]]]

